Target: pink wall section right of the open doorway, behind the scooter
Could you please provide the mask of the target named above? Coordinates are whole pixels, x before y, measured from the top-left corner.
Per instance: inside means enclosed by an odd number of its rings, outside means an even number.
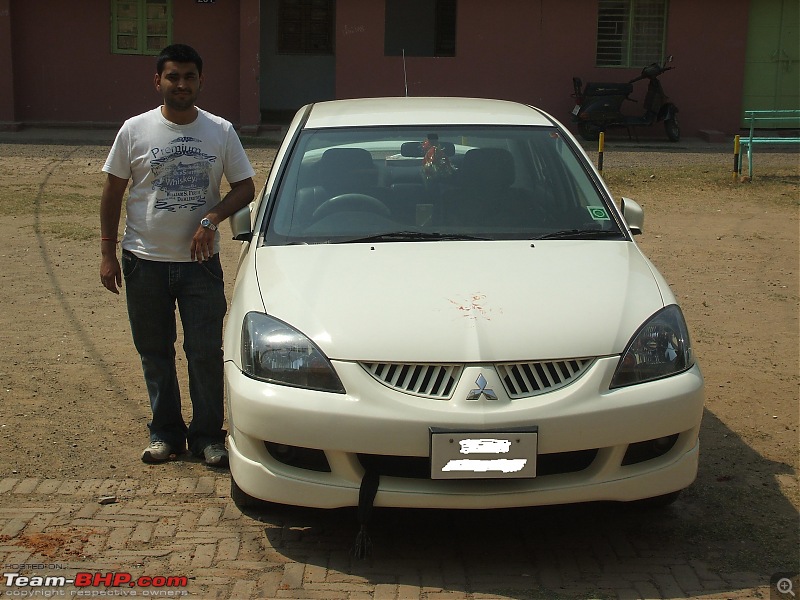
[[[587,0],[459,0],[455,57],[407,57],[410,95],[488,96],[534,104],[569,121],[572,77],[626,81],[641,68],[595,68],[597,5]],[[662,77],[685,135],[739,127],[748,0],[671,0]],[[336,95],[401,95],[403,64],[383,52],[384,3],[339,0]],[[643,67],[644,65],[642,65]],[[629,104],[641,111],[645,83]],[[653,135],[663,129],[653,127]],[[646,135],[648,130],[640,130]]]

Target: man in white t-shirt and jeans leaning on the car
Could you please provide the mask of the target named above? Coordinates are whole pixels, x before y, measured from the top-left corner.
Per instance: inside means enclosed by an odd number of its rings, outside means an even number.
[[[227,304],[217,228],[252,201],[255,172],[233,126],[195,105],[203,85],[198,53],[174,44],[162,50],[156,66],[163,104],[123,124],[103,166],[100,280],[118,294],[125,278],[131,333],[153,413],[142,460],[164,462],[188,443],[206,464],[223,467]],[[231,190],[220,199],[223,175]],[[120,265],[117,230],[129,181]],[[175,367],[176,302],[192,401],[188,427]]]

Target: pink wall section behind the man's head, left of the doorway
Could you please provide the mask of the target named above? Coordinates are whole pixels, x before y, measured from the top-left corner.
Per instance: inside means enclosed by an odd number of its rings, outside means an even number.
[[[118,124],[157,105],[155,57],[112,54],[110,12],[108,0],[0,0],[0,85],[13,82],[0,121]],[[198,104],[245,125],[259,120],[258,31],[258,0],[173,2],[173,40],[203,57]]]

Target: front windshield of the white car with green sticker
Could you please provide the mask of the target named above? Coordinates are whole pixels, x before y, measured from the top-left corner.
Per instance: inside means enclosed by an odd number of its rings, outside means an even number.
[[[266,245],[626,239],[610,199],[549,127],[305,130]]]

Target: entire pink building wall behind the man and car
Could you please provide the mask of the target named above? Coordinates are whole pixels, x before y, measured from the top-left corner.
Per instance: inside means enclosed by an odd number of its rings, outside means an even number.
[[[662,81],[685,136],[739,128],[749,2],[670,0],[675,70]],[[0,126],[116,125],[159,102],[154,57],[111,54],[110,10],[109,0],[0,0]],[[457,11],[455,57],[406,59],[411,95],[511,99],[569,121],[573,76],[625,81],[639,73],[594,67],[592,0],[459,0]],[[259,0],[173,0],[174,41],[205,60],[200,105],[245,128],[260,120],[260,41],[274,35],[260,21]],[[402,59],[384,56],[382,0],[337,0],[335,35],[336,97],[404,93]]]

